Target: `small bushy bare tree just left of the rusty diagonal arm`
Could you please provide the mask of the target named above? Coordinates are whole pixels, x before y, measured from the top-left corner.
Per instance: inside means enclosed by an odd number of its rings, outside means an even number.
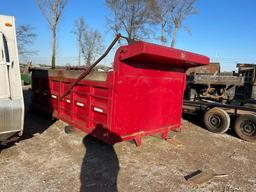
[[[97,30],[86,30],[82,34],[81,51],[88,67],[103,51],[103,39]]]

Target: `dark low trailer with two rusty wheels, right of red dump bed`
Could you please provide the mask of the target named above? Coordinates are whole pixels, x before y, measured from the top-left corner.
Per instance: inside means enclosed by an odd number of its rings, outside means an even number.
[[[246,141],[256,141],[255,100],[247,101],[243,106],[208,100],[184,100],[183,112],[203,114],[205,127],[214,133],[226,132],[230,128],[232,119],[238,137]]]

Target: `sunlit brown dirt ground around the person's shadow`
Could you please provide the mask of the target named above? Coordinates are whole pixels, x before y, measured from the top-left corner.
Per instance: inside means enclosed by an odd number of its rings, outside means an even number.
[[[63,129],[60,121],[27,113],[24,136],[1,150],[0,191],[256,191],[256,143],[187,120],[170,134],[176,142],[148,136],[138,148]],[[184,178],[196,170],[228,176],[197,186]]]

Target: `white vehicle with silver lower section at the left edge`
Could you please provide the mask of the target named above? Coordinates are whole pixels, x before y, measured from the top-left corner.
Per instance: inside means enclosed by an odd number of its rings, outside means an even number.
[[[24,101],[20,78],[15,18],[0,15],[0,143],[21,135]]]

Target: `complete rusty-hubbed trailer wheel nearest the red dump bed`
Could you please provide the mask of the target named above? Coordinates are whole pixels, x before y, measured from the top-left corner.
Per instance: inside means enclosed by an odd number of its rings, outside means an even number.
[[[225,133],[230,126],[230,117],[226,111],[215,107],[205,113],[204,124],[213,133]]]

